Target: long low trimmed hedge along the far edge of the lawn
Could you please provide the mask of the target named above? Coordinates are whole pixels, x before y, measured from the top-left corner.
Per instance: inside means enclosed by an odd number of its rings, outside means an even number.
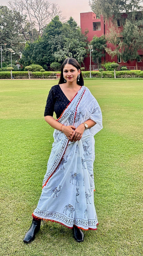
[[[37,71],[37,72],[30,72],[30,77],[33,79],[44,78],[45,79],[56,79],[55,71],[45,71],[44,73]],[[60,73],[60,72],[58,72]],[[90,77],[90,71],[82,71],[83,77]],[[12,71],[12,76],[15,79],[28,79],[28,71]],[[91,71],[91,77],[101,77],[101,72],[99,71]],[[114,78],[114,71],[103,71],[102,74],[103,78]],[[123,70],[123,71],[116,71],[116,77],[143,77],[143,71],[139,70]],[[11,79],[10,71],[0,72],[0,79]]]

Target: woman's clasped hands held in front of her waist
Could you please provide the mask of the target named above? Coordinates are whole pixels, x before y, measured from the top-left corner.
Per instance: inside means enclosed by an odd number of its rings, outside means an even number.
[[[73,125],[62,127],[62,131],[70,141],[80,140],[85,130],[84,124],[79,125],[77,128]]]

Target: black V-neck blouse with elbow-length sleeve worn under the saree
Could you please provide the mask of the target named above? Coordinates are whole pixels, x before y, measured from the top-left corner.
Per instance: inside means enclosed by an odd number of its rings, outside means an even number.
[[[66,95],[63,93],[60,86],[58,84],[52,86],[48,94],[44,117],[53,117],[53,113],[55,112],[56,117],[58,119],[69,103],[70,101],[67,99]]]

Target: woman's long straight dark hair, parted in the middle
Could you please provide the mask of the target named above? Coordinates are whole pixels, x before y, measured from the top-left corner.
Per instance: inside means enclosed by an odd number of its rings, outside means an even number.
[[[77,68],[77,70],[80,70],[79,81],[77,81],[77,84],[83,86],[84,85],[84,79],[83,79],[83,75],[81,73],[81,68],[80,68],[79,63],[74,58],[67,58],[67,59],[64,60],[62,66],[61,66],[61,77],[59,79],[58,84],[64,84],[65,83],[65,79],[63,77],[63,69],[64,69],[64,66],[66,64],[73,65],[74,67]]]

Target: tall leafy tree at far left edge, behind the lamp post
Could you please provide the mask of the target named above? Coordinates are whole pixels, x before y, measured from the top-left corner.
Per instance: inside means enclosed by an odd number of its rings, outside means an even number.
[[[2,59],[7,63],[11,60],[8,48],[12,48],[16,53],[12,56],[12,60],[18,60],[19,52],[24,48],[18,13],[12,12],[6,6],[0,6],[0,45]]]

